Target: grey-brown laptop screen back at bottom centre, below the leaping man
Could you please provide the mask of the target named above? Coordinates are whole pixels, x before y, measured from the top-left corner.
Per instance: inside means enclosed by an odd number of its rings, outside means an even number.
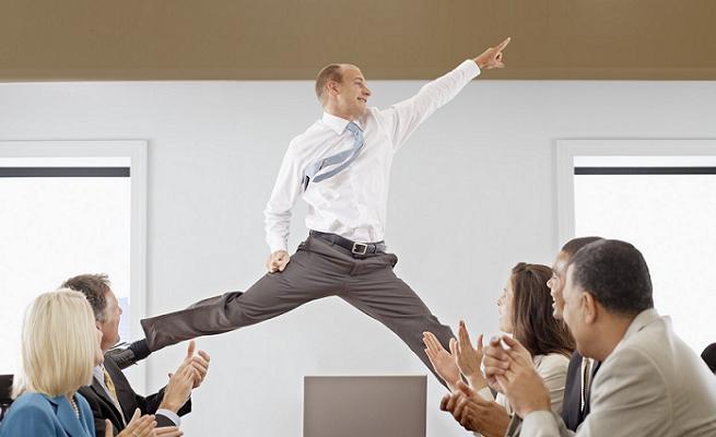
[[[425,437],[423,376],[307,376],[304,437]]]

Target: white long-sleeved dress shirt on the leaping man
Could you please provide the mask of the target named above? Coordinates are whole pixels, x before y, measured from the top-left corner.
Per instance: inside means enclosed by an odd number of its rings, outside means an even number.
[[[266,239],[271,252],[286,250],[291,210],[300,196],[308,203],[306,227],[309,229],[338,234],[353,241],[382,241],[392,155],[427,117],[478,74],[478,64],[466,60],[407,101],[383,110],[368,108],[362,119],[355,120],[364,138],[363,150],[355,161],[329,179],[308,184],[305,191],[305,169],[321,158],[353,147],[354,137],[345,130],[349,120],[326,113],[295,137],[266,205]]]

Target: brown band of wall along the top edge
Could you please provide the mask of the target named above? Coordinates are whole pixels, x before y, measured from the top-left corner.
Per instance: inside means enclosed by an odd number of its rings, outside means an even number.
[[[0,81],[429,79],[512,36],[498,79],[716,79],[714,0],[0,0]]]

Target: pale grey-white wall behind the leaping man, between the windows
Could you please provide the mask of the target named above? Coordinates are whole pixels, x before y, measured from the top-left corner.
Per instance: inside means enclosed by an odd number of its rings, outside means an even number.
[[[386,106],[420,83],[371,85],[372,103]],[[263,205],[287,142],[320,115],[312,90],[309,82],[0,84],[0,140],[150,140],[153,315],[245,290],[262,274]],[[398,274],[444,322],[462,317],[472,332],[495,332],[509,268],[550,264],[559,245],[555,140],[716,138],[715,120],[714,82],[478,80],[395,161],[387,241],[400,257]],[[294,222],[292,246],[306,235]],[[193,436],[300,435],[304,375],[426,371],[394,334],[337,298],[199,344],[212,365],[185,418]],[[150,387],[165,382],[181,350],[150,359]],[[431,379],[429,435],[463,435],[437,411],[442,394]]]

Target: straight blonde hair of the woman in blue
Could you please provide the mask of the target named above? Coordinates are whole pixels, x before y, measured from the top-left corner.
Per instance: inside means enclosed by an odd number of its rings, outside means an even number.
[[[25,311],[22,371],[13,395],[70,394],[92,382],[99,344],[92,307],[80,292],[45,293]]]

